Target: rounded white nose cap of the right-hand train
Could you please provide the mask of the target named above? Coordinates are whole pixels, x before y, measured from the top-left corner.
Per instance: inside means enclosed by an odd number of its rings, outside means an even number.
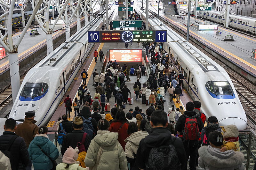
[[[219,126],[227,126],[230,124],[236,125],[236,127],[238,129],[245,129],[247,122],[245,120],[243,120],[241,118],[237,118],[237,117],[225,118],[219,122]]]

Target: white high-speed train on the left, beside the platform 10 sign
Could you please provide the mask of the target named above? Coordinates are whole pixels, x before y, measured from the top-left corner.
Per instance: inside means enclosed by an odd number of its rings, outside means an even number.
[[[9,118],[23,121],[25,112],[35,111],[36,125],[48,123],[94,45],[88,43],[87,31],[101,29],[104,12],[28,71]]]

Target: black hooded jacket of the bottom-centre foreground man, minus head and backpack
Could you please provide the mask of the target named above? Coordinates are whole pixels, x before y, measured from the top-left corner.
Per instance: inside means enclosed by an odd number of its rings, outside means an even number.
[[[187,169],[186,152],[180,138],[172,136],[168,128],[153,128],[151,133],[141,139],[136,155],[136,166],[140,169],[146,169],[146,162],[151,148],[163,145],[173,144],[181,164],[181,169]]]

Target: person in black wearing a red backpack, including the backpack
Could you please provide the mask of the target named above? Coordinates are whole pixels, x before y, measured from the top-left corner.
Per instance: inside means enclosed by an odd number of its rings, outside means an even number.
[[[187,161],[189,159],[190,170],[196,170],[197,149],[201,130],[204,127],[200,116],[194,111],[195,105],[189,101],[186,104],[186,112],[178,119],[175,131],[183,139],[184,149],[186,151]],[[182,170],[187,170],[184,167]]]

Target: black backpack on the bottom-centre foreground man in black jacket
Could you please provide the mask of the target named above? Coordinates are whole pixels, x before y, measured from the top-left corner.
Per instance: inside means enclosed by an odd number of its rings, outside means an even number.
[[[175,146],[169,144],[151,148],[146,167],[147,170],[180,170],[181,164]]]

